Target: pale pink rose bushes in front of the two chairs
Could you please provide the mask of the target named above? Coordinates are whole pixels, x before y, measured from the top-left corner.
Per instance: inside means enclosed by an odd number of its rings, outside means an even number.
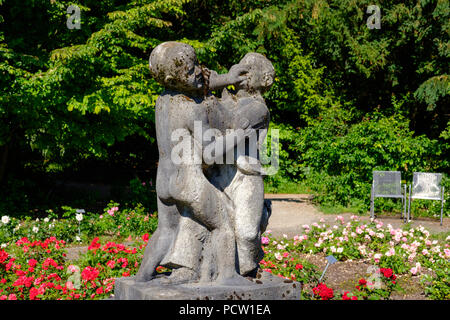
[[[341,261],[362,259],[400,274],[417,263],[431,268],[437,262],[447,264],[450,258],[448,239],[443,248],[422,226],[395,229],[377,220],[363,223],[356,216],[347,223],[340,216],[336,221],[331,227],[304,225],[304,233],[294,238],[293,247],[304,253],[331,254]]]

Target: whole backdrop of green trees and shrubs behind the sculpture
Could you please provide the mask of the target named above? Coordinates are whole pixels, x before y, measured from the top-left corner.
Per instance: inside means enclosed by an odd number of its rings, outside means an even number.
[[[312,191],[322,206],[365,212],[372,170],[401,170],[405,181],[414,171],[449,173],[448,1],[384,1],[380,30],[366,26],[369,0],[71,3],[79,30],[66,27],[65,1],[0,1],[0,213],[48,201],[30,172],[156,162],[162,88],[147,59],[167,40],[190,43],[218,72],[249,51],[273,62],[265,99],[281,149],[271,192]],[[122,203],[155,205],[139,180],[129,189]],[[439,212],[436,201],[413,210]]]

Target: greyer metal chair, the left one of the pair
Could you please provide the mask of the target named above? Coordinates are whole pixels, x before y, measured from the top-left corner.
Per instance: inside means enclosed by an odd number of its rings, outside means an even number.
[[[400,171],[373,171],[372,190],[370,196],[370,217],[375,217],[375,198],[402,199],[401,218],[406,219],[406,184],[402,188]]]

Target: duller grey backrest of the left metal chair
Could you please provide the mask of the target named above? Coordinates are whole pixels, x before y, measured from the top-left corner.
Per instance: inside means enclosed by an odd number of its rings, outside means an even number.
[[[402,174],[400,171],[373,171],[375,197],[402,196]]]

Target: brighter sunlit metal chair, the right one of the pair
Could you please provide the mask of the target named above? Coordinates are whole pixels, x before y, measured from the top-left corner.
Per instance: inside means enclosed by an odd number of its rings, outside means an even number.
[[[444,186],[441,186],[442,174],[430,172],[414,172],[413,183],[409,185],[408,221],[411,220],[411,200],[440,200],[441,226],[444,214]]]

